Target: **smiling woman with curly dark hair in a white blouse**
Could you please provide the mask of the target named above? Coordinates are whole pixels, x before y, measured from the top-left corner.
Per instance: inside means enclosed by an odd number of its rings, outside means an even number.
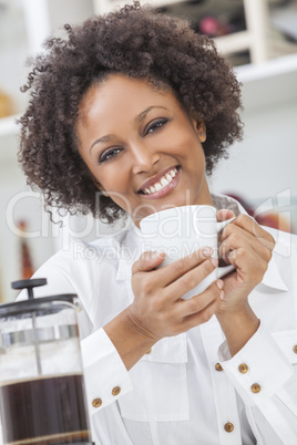
[[[132,220],[37,272],[49,292],[80,296],[96,443],[295,443],[296,241],[213,196],[205,178],[242,137],[229,65],[186,21],[139,2],[65,29],[24,87],[19,157],[49,205]],[[139,227],[195,204],[236,216],[219,247],[235,271],[183,300],[217,266],[212,249],[156,269],[164,253],[141,253]]]

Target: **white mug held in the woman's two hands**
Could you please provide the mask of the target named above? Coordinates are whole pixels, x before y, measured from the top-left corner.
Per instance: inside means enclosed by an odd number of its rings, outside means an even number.
[[[212,206],[182,206],[161,210],[143,218],[140,222],[143,245],[142,250],[165,251],[160,267],[167,266],[180,258],[212,247],[213,257],[218,257],[218,232],[234,218],[218,222],[216,209]],[[188,299],[202,293],[217,278],[234,270],[234,266],[217,267],[198,286],[186,292]]]

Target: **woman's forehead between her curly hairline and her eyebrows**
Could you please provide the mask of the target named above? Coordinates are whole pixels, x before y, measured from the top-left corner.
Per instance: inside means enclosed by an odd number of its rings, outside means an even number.
[[[111,74],[86,91],[80,104],[80,120],[83,122],[98,113],[104,116],[115,116],[120,112],[139,113],[151,105],[181,108],[180,102],[166,85],[161,87],[143,79]]]

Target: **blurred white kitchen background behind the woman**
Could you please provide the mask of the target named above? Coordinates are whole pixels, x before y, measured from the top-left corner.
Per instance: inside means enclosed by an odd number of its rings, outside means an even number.
[[[64,23],[129,0],[0,0],[0,302],[10,282],[30,277],[72,238],[92,240],[122,228],[91,217],[52,224],[41,195],[18,166],[16,120],[25,107],[25,59]],[[260,224],[297,232],[297,0],[141,1],[215,39],[243,83],[245,138],[208,178],[211,189],[240,200]],[[57,216],[57,220],[61,219]]]

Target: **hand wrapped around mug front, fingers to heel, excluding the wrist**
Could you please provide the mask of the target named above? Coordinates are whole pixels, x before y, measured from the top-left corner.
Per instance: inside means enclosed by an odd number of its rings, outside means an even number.
[[[134,301],[127,308],[131,322],[153,341],[177,335],[211,319],[217,312],[224,291],[223,281],[213,282],[188,300],[182,297],[217,266],[212,249],[201,249],[185,258],[155,269],[164,253],[146,251],[133,265]]]

